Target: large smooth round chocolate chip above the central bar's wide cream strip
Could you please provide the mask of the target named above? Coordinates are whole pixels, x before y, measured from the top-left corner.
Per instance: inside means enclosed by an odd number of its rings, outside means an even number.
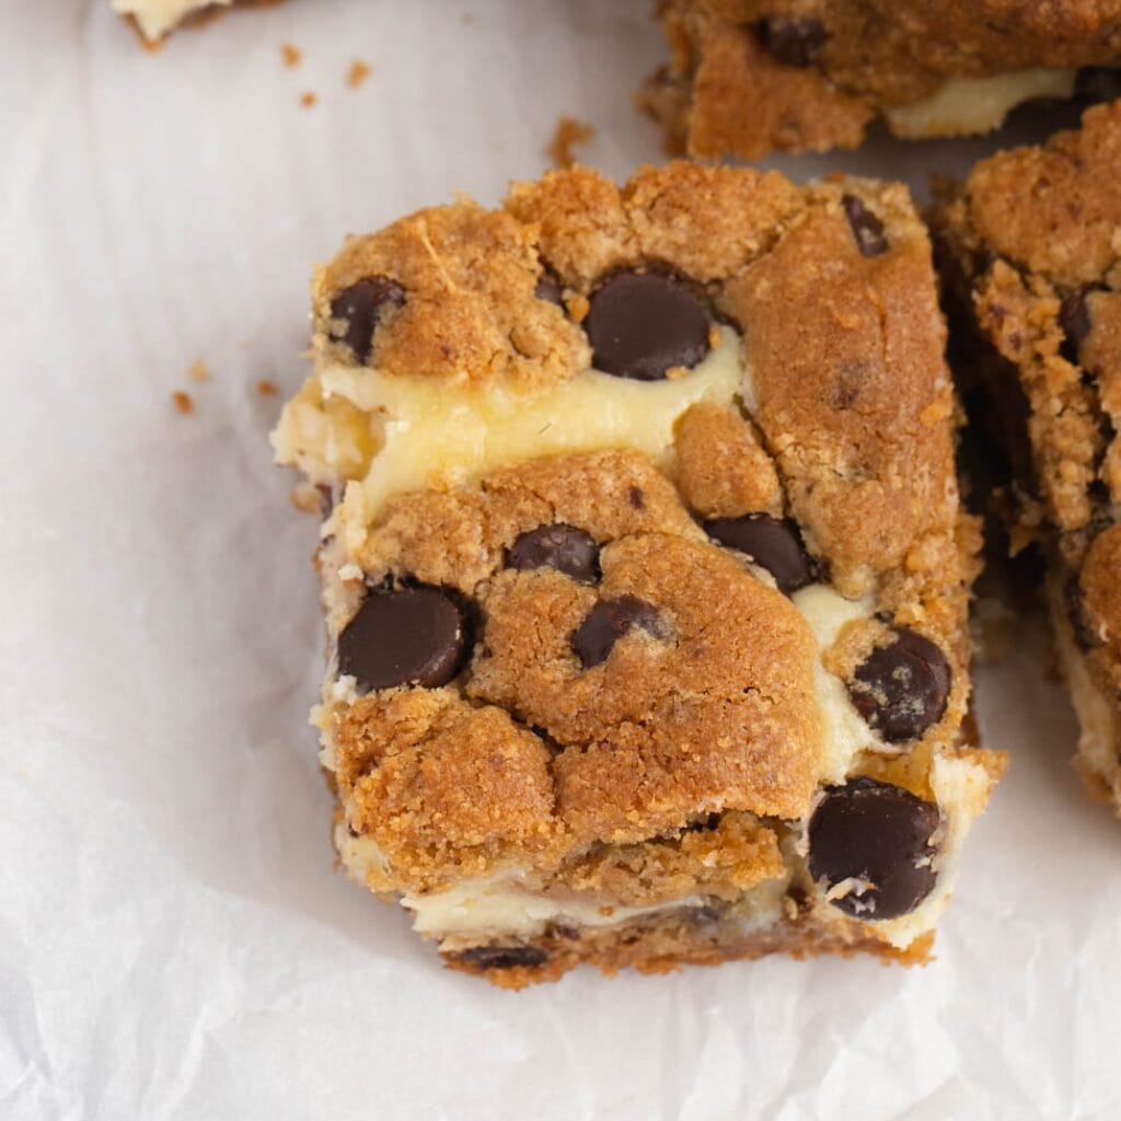
[[[592,294],[584,324],[592,364],[605,373],[657,381],[708,353],[708,316],[675,280],[620,272]]]

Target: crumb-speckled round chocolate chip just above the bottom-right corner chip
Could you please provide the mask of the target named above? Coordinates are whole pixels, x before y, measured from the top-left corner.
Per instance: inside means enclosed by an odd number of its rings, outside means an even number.
[[[946,711],[949,663],[924,634],[895,628],[856,669],[849,694],[860,714],[889,743],[918,739]]]

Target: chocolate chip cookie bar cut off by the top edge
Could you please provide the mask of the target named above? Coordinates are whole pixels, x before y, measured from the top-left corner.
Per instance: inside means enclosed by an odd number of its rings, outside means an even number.
[[[1017,104],[1093,96],[1121,66],[1121,3],[664,0],[670,62],[641,104],[675,151],[754,159],[997,128]],[[1081,72],[1081,73],[1080,73]]]

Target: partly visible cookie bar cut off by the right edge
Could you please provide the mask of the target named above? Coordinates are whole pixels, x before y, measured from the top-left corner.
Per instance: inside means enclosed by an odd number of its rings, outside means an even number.
[[[1041,547],[1076,766],[1121,810],[1121,102],[946,185],[939,256],[962,377],[1013,478],[1013,550]]]

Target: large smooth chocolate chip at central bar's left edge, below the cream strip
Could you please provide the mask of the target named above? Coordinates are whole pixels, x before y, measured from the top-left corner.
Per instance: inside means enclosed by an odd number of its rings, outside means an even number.
[[[446,685],[467,647],[458,604],[438,587],[371,592],[339,636],[339,673],[363,693]]]

